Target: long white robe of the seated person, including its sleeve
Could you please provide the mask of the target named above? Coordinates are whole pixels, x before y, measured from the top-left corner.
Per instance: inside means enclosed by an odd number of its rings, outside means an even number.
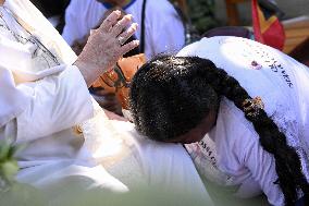
[[[29,1],[7,0],[0,12],[0,138],[27,145],[17,157],[18,181],[44,189],[76,178],[116,192],[159,185],[211,205],[181,145],[108,120],[72,65],[76,56]]]

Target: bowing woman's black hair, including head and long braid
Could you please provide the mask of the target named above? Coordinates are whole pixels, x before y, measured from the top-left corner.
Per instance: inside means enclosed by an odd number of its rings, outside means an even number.
[[[157,141],[174,138],[195,128],[224,96],[244,111],[259,134],[262,148],[275,159],[276,181],[285,204],[294,205],[302,191],[308,203],[309,186],[299,157],[286,136],[263,109],[251,116],[243,106],[251,99],[238,81],[210,60],[198,57],[158,57],[134,76],[131,109],[138,131]],[[307,205],[307,204],[306,204]],[[308,204],[309,205],[309,204]]]

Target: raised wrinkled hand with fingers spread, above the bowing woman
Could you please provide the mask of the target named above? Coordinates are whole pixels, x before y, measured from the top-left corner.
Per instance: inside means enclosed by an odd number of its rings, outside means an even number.
[[[86,46],[74,63],[81,70],[88,86],[115,64],[119,58],[139,44],[138,40],[133,40],[123,45],[135,33],[137,24],[131,23],[129,14],[119,20],[120,16],[120,11],[113,11],[99,28],[91,32]]]

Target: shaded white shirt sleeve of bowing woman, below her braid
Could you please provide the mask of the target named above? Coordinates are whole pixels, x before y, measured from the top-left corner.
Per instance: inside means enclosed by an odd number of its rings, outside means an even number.
[[[263,192],[271,205],[284,205],[284,196],[275,171],[274,157],[265,152],[252,123],[234,102],[223,98],[217,126],[209,134],[214,137],[220,170],[231,175],[227,185],[237,185],[236,196],[248,198]]]

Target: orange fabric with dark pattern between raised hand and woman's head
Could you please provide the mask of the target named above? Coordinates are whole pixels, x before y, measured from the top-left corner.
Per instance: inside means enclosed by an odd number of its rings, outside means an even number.
[[[122,108],[128,109],[128,85],[135,72],[145,62],[146,56],[144,53],[122,58],[118,61],[118,65],[104,72],[92,84],[92,87],[103,87],[106,90],[115,94],[122,105]],[[124,78],[121,81],[122,77]]]

